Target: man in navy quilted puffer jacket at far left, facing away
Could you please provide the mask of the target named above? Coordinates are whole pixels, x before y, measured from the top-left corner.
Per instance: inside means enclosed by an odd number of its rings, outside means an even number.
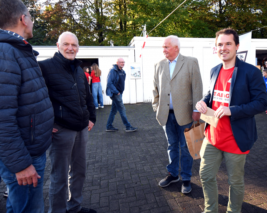
[[[31,44],[34,17],[20,0],[0,0],[0,174],[7,212],[43,213],[45,151],[54,113]],[[38,55],[38,53],[36,53]]]

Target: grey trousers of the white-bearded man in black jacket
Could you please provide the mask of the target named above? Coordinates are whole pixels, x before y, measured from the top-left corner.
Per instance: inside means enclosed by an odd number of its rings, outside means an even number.
[[[67,209],[70,213],[76,213],[82,208],[88,128],[79,132],[58,124],[54,124],[54,128],[58,129],[58,132],[53,133],[53,142],[48,149],[51,162],[48,212],[65,213]]]

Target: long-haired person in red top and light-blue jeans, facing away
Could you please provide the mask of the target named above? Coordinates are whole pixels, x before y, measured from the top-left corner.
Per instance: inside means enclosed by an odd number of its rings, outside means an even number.
[[[92,94],[94,98],[94,105],[98,109],[97,95],[99,97],[100,108],[104,108],[103,96],[102,96],[102,86],[100,83],[101,70],[98,68],[96,63],[91,66],[91,77],[92,77]]]

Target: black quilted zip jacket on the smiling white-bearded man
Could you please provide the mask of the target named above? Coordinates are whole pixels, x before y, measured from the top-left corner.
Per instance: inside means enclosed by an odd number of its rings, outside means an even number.
[[[39,61],[49,97],[54,108],[55,123],[80,131],[89,120],[96,123],[96,108],[89,84],[80,65],[74,60],[73,72],[70,61],[58,52],[52,58]]]

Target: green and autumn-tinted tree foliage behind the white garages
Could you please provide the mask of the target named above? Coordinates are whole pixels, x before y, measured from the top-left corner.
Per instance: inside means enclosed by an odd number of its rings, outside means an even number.
[[[126,46],[140,36],[144,24],[151,31],[183,0],[23,0],[36,16],[33,45],[55,45],[58,36],[70,31],[80,45]],[[45,6],[45,7],[44,7]],[[263,0],[187,0],[149,36],[214,38],[228,26],[239,34],[267,23]],[[267,28],[252,32],[252,38],[267,38]]]

